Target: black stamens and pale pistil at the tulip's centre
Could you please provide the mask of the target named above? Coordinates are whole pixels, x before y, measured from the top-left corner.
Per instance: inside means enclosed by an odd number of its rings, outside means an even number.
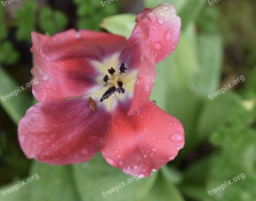
[[[115,69],[112,67],[111,69],[108,69],[111,78],[109,78],[108,75],[105,75],[103,81],[105,82],[104,84],[109,86],[109,89],[101,96],[100,102],[106,100],[115,92],[124,93],[125,89],[123,88],[123,82],[121,81],[122,73],[125,73],[125,70],[127,70],[127,68],[124,67],[124,63],[121,64],[119,70],[120,72],[115,75]]]

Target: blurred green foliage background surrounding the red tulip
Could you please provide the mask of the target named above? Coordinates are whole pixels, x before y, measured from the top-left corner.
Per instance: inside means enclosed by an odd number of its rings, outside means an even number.
[[[185,147],[175,160],[151,177],[135,181],[104,198],[102,191],[132,176],[107,164],[101,154],[89,162],[74,165],[51,166],[33,161],[27,173],[29,163],[20,156],[22,152],[17,142],[11,142],[7,131],[0,130],[0,177],[12,181],[2,186],[0,192],[35,173],[40,176],[33,184],[1,200],[255,200],[255,3],[220,1],[210,6],[203,0],[145,0],[145,7],[165,2],[175,5],[182,18],[182,33],[176,50],[156,65],[157,79],[151,99],[184,125]],[[77,28],[104,28],[126,38],[130,36],[136,15],[120,14],[121,1],[106,7],[102,7],[100,1],[74,0],[73,3],[77,8]],[[17,64],[19,59],[19,53],[7,39],[10,29],[16,28],[18,41],[31,43],[31,31],[53,35],[65,30],[70,22],[65,13],[50,6],[39,8],[35,1],[22,3],[13,14],[14,21],[5,18],[5,11],[0,6],[0,95],[20,85],[3,68]],[[236,77],[243,74],[245,82],[240,82],[238,89],[232,88],[210,100],[208,94],[222,87],[221,81],[229,74]],[[32,96],[22,93],[0,104],[17,125],[34,102]],[[9,167],[12,168],[4,175]],[[242,173],[244,180],[212,196],[207,193]]]

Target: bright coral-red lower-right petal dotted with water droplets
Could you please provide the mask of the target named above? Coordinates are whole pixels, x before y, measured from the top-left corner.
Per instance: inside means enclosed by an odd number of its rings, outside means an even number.
[[[119,105],[112,116],[105,147],[106,161],[123,172],[148,177],[184,146],[182,124],[148,102],[140,115],[127,117]]]

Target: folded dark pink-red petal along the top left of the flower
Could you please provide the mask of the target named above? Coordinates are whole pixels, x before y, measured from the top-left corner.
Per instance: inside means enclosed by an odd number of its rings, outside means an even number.
[[[122,36],[91,30],[69,29],[49,37],[42,52],[54,61],[80,58],[102,61],[131,46]]]

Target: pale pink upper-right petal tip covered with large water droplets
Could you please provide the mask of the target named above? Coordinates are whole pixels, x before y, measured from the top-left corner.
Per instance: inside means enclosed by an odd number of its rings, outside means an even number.
[[[177,17],[172,4],[159,4],[155,8],[145,8],[137,18],[150,27],[149,39],[154,47],[156,63],[168,57],[176,48],[181,34],[181,18]],[[133,35],[133,34],[132,34]]]

